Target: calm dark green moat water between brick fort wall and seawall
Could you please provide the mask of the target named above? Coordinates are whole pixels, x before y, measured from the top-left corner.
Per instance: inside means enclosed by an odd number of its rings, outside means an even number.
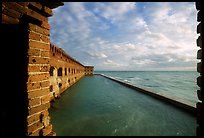
[[[195,136],[196,117],[101,76],[84,77],[50,108],[58,136]]]

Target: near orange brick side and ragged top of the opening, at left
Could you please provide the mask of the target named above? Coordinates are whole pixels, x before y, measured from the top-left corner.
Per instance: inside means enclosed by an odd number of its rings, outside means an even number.
[[[39,3],[39,2],[2,2],[2,24],[26,26],[27,32],[25,43],[20,46],[26,48],[27,59],[27,111],[25,118],[26,134],[29,136],[55,135],[52,132],[52,124],[48,109],[50,108],[50,39],[48,17],[52,16],[52,8],[63,5],[61,2]],[[6,32],[6,31],[5,31]],[[21,35],[21,34],[19,34]],[[12,40],[11,40],[12,41]],[[12,47],[10,47],[12,49]],[[22,66],[23,64],[21,64]],[[18,73],[18,72],[17,72]],[[17,80],[17,78],[15,78]],[[25,80],[24,80],[25,81]],[[24,89],[23,89],[24,90]],[[20,92],[20,90],[18,91]],[[12,102],[11,102],[12,103]],[[14,103],[13,103],[14,104]],[[14,105],[15,106],[15,105]],[[5,110],[5,117],[10,112]],[[6,119],[10,119],[7,117]],[[18,116],[14,122],[17,122]],[[10,122],[8,122],[10,123]],[[8,134],[17,128],[6,130]],[[18,126],[18,122],[16,123]],[[21,127],[21,125],[19,125]],[[9,129],[9,128],[6,128]],[[10,131],[10,133],[9,133]],[[20,134],[16,131],[16,134]],[[21,133],[22,134],[22,133]],[[5,134],[6,135],[6,134]]]

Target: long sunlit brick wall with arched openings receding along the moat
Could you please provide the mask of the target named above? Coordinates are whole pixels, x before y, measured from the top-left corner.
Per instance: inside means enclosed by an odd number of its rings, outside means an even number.
[[[84,66],[53,44],[50,45],[50,67],[52,100],[84,76]]]

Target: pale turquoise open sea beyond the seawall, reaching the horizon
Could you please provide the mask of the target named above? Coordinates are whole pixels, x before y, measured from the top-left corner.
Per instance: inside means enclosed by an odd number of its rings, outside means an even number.
[[[149,89],[196,107],[196,71],[100,71],[108,76]]]

